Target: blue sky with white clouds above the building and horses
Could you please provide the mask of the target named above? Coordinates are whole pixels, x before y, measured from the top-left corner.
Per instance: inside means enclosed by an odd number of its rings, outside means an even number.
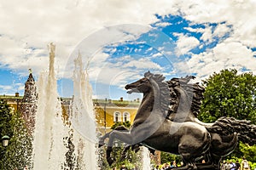
[[[0,95],[23,95],[28,69],[36,81],[49,70],[50,42],[64,97],[79,54],[97,99],[141,97],[124,87],[146,71],[195,82],[223,69],[255,74],[255,8],[255,0],[1,1]]]

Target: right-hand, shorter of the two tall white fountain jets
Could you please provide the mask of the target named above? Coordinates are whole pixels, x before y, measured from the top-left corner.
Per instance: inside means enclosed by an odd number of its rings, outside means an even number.
[[[79,169],[91,170],[97,167],[96,118],[92,88],[80,54],[74,63],[73,105],[70,118],[74,129],[75,148],[79,157]]]

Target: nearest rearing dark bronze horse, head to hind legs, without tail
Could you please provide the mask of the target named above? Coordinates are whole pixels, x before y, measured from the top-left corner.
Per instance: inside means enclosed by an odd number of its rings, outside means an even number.
[[[196,122],[173,122],[166,119],[162,106],[166,105],[165,95],[169,89],[162,75],[149,72],[137,82],[125,86],[128,93],[143,93],[143,100],[129,130],[113,130],[100,139],[108,140],[107,158],[111,162],[113,139],[126,144],[143,144],[154,150],[161,150],[182,156],[184,167],[176,169],[196,169],[195,158],[205,154],[211,143],[207,128]],[[162,92],[162,93],[160,93]]]

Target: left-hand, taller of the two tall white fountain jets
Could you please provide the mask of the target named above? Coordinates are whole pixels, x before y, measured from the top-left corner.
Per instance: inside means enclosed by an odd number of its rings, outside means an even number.
[[[61,169],[67,149],[63,137],[67,127],[61,120],[55,78],[55,45],[49,44],[49,72],[42,72],[38,80],[38,111],[33,139],[33,169]]]

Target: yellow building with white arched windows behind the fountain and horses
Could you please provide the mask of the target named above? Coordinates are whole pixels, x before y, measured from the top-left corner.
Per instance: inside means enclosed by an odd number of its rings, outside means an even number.
[[[23,96],[18,93],[15,95],[0,95],[0,99],[7,101],[7,104],[12,108],[12,111],[20,111],[24,102]],[[61,103],[67,114],[72,98],[61,98]],[[119,100],[112,99],[93,99],[95,109],[96,124],[101,133],[109,132],[115,122],[133,122],[137,113],[137,108],[140,105],[139,99],[127,101],[120,98]],[[29,113],[27,113],[29,114]]]

